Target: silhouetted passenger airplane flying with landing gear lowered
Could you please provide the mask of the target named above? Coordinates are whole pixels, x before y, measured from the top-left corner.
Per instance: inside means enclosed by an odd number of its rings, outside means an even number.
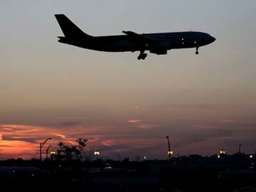
[[[119,36],[90,36],[84,33],[64,14],[55,14],[64,36],[58,36],[60,43],[80,48],[107,52],[139,51],[138,60],[144,60],[146,50],[156,55],[166,55],[168,50],[181,48],[198,48],[215,41],[213,36],[202,32],[143,33],[122,31]]]

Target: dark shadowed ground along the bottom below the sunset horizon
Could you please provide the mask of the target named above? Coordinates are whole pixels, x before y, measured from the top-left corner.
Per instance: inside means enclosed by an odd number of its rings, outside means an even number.
[[[0,184],[1,191],[254,191],[254,164],[247,156],[141,162],[20,159],[0,162]]]

